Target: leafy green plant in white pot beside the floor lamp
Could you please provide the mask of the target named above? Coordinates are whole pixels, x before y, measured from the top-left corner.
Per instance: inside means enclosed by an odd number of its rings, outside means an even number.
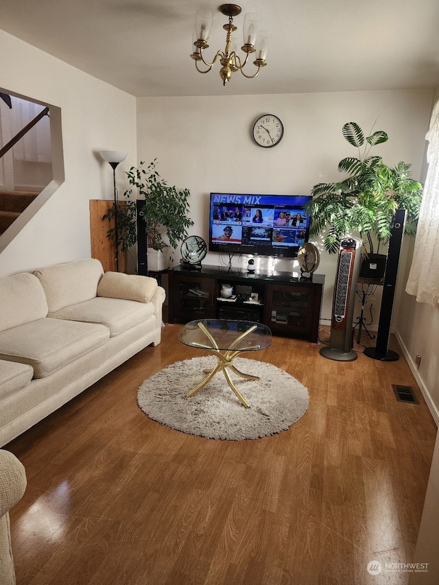
[[[145,222],[148,267],[150,270],[163,270],[167,265],[163,250],[168,247],[177,248],[178,243],[187,237],[187,228],[193,225],[189,217],[190,191],[169,186],[156,171],[156,158],[146,169],[143,165],[145,162],[141,161],[139,167],[131,167],[126,172],[131,187],[124,193],[127,198],[121,211],[124,229],[123,231],[118,229],[118,241],[121,250],[128,249],[136,243],[137,205],[131,198],[134,195],[136,198],[142,198],[144,204],[141,212]],[[118,226],[119,213],[118,211]],[[112,217],[114,209],[110,208],[104,218]],[[114,238],[112,232],[114,230],[108,230],[108,236]]]

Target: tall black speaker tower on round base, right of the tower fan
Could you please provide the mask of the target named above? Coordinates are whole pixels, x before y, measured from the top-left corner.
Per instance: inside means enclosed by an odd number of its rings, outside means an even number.
[[[396,351],[390,350],[388,346],[406,215],[407,211],[405,209],[398,209],[393,217],[392,228],[390,230],[392,235],[389,240],[387,263],[385,265],[383,298],[381,299],[381,309],[379,311],[377,345],[375,347],[367,347],[364,350],[364,355],[367,355],[367,357],[381,361],[396,361],[399,359],[399,354]]]

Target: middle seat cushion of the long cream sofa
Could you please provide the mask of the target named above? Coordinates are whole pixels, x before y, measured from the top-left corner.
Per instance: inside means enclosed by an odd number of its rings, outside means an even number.
[[[108,341],[103,325],[38,319],[0,333],[0,359],[27,363],[44,378]]]

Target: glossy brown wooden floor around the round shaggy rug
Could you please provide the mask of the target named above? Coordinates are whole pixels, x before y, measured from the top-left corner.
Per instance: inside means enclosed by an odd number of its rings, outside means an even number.
[[[344,363],[275,337],[252,357],[308,387],[307,413],[272,437],[215,441],[137,407],[145,378],[200,355],[180,329],[6,446],[28,479],[10,514],[17,584],[406,584],[366,570],[413,559],[436,436],[401,351]]]

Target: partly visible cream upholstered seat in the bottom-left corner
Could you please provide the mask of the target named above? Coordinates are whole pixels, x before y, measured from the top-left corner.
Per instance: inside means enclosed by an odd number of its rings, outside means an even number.
[[[0,583],[15,584],[14,560],[12,557],[9,510],[26,489],[25,468],[9,451],[0,449]]]

